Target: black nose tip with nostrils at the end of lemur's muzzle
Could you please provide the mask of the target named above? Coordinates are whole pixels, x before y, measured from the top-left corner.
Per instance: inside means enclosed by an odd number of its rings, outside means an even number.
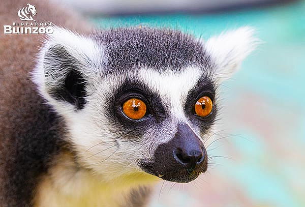
[[[175,160],[184,165],[189,171],[193,171],[204,160],[204,156],[204,151],[201,147],[192,150],[180,148],[174,150]]]

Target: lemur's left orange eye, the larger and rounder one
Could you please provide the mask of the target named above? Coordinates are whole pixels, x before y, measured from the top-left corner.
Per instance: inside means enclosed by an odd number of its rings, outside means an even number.
[[[146,104],[140,99],[129,99],[123,104],[123,112],[130,119],[140,120],[146,114]]]

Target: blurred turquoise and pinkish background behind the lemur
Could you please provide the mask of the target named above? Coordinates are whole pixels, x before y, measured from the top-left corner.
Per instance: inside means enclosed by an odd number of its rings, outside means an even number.
[[[263,44],[221,88],[208,173],[189,184],[161,181],[149,207],[305,206],[305,1],[66,3],[102,29],[171,27],[207,39],[255,27]]]

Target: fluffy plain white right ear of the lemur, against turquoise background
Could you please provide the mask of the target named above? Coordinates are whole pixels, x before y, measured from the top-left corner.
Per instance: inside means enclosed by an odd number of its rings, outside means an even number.
[[[255,49],[258,39],[253,35],[254,29],[246,26],[207,40],[205,49],[216,64],[215,74],[218,77],[230,77]]]

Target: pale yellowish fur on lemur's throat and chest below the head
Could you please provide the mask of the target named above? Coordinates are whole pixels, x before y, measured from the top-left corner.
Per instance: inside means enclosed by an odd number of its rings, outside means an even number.
[[[115,207],[125,203],[131,189],[158,181],[153,175],[135,172],[109,182],[78,167],[71,155],[57,160],[43,176],[34,199],[35,207]]]

